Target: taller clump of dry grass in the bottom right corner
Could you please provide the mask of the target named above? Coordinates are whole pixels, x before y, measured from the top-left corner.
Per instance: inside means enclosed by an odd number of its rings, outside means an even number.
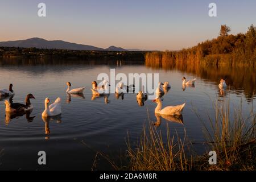
[[[209,149],[217,153],[217,165],[209,167],[209,156],[199,156],[199,169],[255,170],[256,115],[253,108],[248,117],[242,115],[242,105],[230,114],[230,103],[214,104],[215,117],[209,117],[210,127],[204,127]],[[198,115],[200,118],[200,116]],[[201,121],[204,123],[203,119]]]

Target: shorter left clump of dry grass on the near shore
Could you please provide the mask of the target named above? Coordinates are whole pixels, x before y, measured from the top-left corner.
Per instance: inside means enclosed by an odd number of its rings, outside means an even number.
[[[143,129],[141,140],[133,148],[128,141],[127,159],[133,171],[187,171],[191,169],[191,159],[185,152],[186,139],[171,137],[167,129],[167,144],[162,134],[152,126]],[[149,133],[149,134],[147,134]]]

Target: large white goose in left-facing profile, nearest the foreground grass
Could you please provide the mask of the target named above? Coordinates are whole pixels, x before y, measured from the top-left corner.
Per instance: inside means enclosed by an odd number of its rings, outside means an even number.
[[[177,106],[167,106],[162,109],[162,100],[158,97],[152,102],[158,104],[155,108],[155,113],[165,115],[181,115],[185,107],[185,103]]]

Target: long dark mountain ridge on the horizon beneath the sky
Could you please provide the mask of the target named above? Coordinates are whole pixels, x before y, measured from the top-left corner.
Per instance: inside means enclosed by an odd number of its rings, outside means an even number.
[[[48,49],[71,49],[71,50],[85,50],[85,51],[127,51],[121,47],[110,46],[107,49],[88,46],[83,44],[76,44],[65,42],[63,40],[45,40],[41,38],[31,38],[26,40],[15,40],[0,42],[0,47],[36,47],[36,48],[48,48]]]

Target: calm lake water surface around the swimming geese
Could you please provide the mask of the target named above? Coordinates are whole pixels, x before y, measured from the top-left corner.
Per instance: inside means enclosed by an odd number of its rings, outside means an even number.
[[[192,142],[204,142],[203,126],[195,111],[208,122],[207,113],[213,116],[212,101],[230,100],[231,113],[242,102],[243,114],[255,110],[255,70],[239,68],[201,68],[199,71],[184,68],[153,68],[143,63],[120,61],[0,61],[0,87],[9,88],[13,83],[14,102],[24,102],[28,93],[34,110],[23,116],[5,113],[4,101],[0,100],[0,169],[42,170],[42,169],[80,169],[92,168],[96,151],[109,154],[118,160],[126,150],[127,133],[131,143],[137,139],[144,125],[155,122],[156,104],[150,100],[139,106],[136,93],[115,97],[110,94],[109,103],[105,98],[92,98],[91,82],[97,80],[98,73],[110,74],[115,68],[117,73],[159,73],[159,80],[169,81],[171,89],[163,96],[163,105],[187,103],[183,111],[183,124],[166,121],[157,130],[166,135],[167,125],[171,134],[184,136],[184,130]],[[181,78],[196,78],[195,88],[182,88]],[[218,89],[221,77],[226,78],[228,89],[222,93]],[[84,97],[69,98],[65,93],[66,82],[73,88],[86,86]],[[61,117],[44,121],[44,99],[62,99]],[[176,121],[175,119],[173,119]],[[46,134],[46,130],[50,134]],[[38,151],[46,151],[47,165],[38,165]],[[204,152],[204,146],[196,146]],[[100,160],[98,169],[112,169]]]

